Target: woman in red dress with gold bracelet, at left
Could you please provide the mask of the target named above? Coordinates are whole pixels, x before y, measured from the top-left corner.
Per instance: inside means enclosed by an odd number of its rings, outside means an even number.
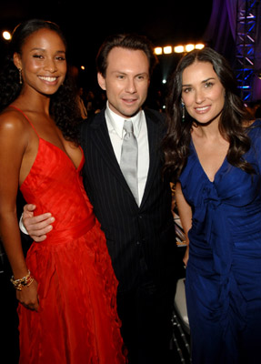
[[[19,301],[20,363],[125,363],[117,281],[85,195],[65,38],[51,22],[15,28],[0,92],[0,231]],[[24,257],[17,187],[53,230]]]

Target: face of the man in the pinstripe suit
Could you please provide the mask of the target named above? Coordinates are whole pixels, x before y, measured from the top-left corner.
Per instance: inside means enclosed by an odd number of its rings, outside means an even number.
[[[113,48],[107,57],[105,77],[98,83],[106,91],[109,107],[123,117],[136,115],[146,101],[149,86],[149,62],[141,50]]]

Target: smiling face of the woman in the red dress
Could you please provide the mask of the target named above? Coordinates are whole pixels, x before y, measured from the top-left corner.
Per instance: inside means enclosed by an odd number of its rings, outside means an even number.
[[[22,55],[15,54],[14,62],[22,69],[24,90],[53,95],[65,80],[65,44],[50,29],[29,35],[22,46]]]

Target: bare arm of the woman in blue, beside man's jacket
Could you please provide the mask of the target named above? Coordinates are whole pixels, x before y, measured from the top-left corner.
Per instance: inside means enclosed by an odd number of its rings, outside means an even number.
[[[191,228],[192,225],[192,210],[191,207],[188,205],[188,203],[186,202],[186,199],[182,193],[182,189],[181,189],[181,185],[179,182],[176,183],[176,207],[178,210],[178,215],[181,221],[181,225],[184,229],[185,232],[185,236],[186,236],[186,253],[185,256],[183,258],[183,261],[186,265],[187,260],[188,260],[188,244],[189,244],[189,239],[188,239],[188,231]]]

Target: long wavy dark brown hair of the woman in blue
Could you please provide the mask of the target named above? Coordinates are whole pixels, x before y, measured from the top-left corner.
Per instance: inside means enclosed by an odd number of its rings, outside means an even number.
[[[249,150],[251,142],[246,135],[246,126],[244,126],[244,121],[247,119],[246,106],[238,95],[236,77],[226,58],[209,47],[186,54],[181,58],[176,70],[170,76],[169,92],[166,99],[167,131],[162,142],[165,156],[164,174],[176,183],[186,166],[191,142],[191,129],[193,125],[196,125],[196,120],[186,112],[185,121],[182,122],[182,74],[187,66],[196,61],[211,63],[226,90],[219,131],[229,142],[227,161],[232,166],[239,167],[247,173],[255,174],[255,169],[243,157]]]

